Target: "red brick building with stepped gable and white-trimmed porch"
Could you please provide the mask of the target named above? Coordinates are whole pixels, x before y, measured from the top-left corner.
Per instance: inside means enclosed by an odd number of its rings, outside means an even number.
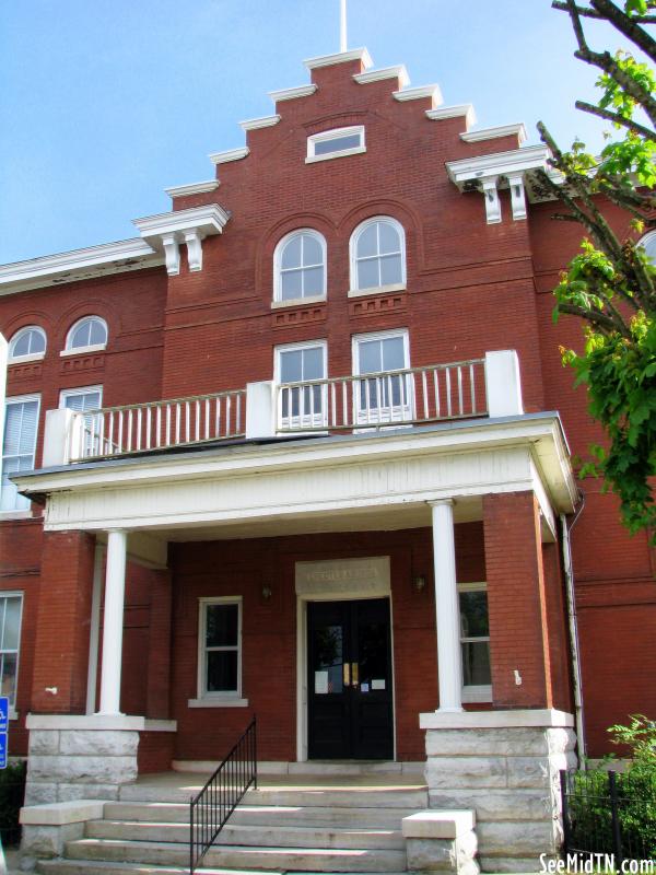
[[[122,726],[161,770],[257,713],[262,760],[575,723],[600,756],[656,713],[656,588],[572,465],[599,435],[550,291],[581,229],[522,126],[364,50],[307,67],[139,237],[0,268],[12,752]]]

